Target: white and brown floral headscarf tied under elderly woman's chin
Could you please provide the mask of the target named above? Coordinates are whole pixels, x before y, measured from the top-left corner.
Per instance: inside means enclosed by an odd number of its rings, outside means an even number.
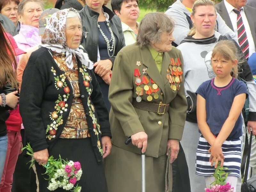
[[[82,49],[70,49],[67,46],[66,38],[66,20],[69,11],[74,11],[81,22],[79,13],[74,8],[63,9],[52,14],[47,23],[44,34],[42,35],[42,47],[46,47],[56,52],[66,52],[68,68],[73,68],[72,53],[76,53],[77,58],[89,69],[93,68],[92,61],[89,60],[88,54]]]

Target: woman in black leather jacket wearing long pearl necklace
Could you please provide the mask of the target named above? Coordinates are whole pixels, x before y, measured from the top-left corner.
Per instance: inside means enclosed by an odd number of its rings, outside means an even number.
[[[104,0],[86,0],[79,12],[83,24],[82,43],[94,62],[94,72],[100,84],[108,111],[108,88],[117,53],[125,46],[121,20],[110,10]]]

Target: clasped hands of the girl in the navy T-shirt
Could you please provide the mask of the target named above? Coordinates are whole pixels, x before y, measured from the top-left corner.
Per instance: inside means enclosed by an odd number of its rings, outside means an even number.
[[[208,150],[208,153],[211,153],[210,160],[209,160],[211,162],[211,166],[213,166],[213,163],[215,162],[214,168],[216,168],[218,166],[219,161],[220,161],[220,166],[221,167],[223,166],[225,157],[222,153],[221,146],[213,144],[212,147],[210,147],[210,149]]]

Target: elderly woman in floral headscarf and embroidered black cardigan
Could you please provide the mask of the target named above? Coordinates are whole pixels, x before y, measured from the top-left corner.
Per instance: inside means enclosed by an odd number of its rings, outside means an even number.
[[[111,149],[108,111],[92,62],[79,48],[81,37],[81,19],[75,9],[54,13],[44,30],[42,47],[31,54],[23,74],[20,113],[38,162],[40,192],[48,191],[40,165],[49,156],[59,155],[81,163],[82,191],[107,191],[102,158]]]

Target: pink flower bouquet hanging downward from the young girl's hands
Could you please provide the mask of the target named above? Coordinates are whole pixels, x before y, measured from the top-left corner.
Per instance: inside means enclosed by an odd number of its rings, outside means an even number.
[[[220,162],[215,168],[213,176],[215,177],[214,182],[210,184],[210,187],[204,188],[205,192],[233,192],[234,188],[229,183],[226,183],[229,172],[227,167],[220,167]]]

